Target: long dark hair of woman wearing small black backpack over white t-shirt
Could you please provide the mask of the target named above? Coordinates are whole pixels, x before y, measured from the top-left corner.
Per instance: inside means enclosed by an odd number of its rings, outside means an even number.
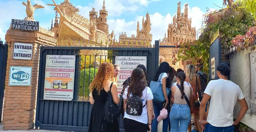
[[[142,68],[135,68],[131,74],[131,82],[129,84],[127,98],[132,95],[141,97],[142,91],[147,87],[147,80]]]

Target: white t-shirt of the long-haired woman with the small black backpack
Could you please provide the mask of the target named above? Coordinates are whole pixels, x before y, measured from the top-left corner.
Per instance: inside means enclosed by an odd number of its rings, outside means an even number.
[[[128,92],[128,88],[125,88],[125,92],[123,95],[124,99],[127,99],[127,92]],[[130,96],[132,96],[132,94],[130,94]],[[142,105],[144,106],[146,104],[146,102],[148,100],[153,100],[153,94],[152,91],[149,87],[146,87],[143,91],[142,91]],[[147,110],[147,105],[145,107],[143,107],[142,109],[142,114],[141,116],[135,116],[135,115],[128,115],[124,114],[124,118],[128,118],[128,119],[132,119],[132,120],[136,120],[137,122],[143,123],[143,124],[147,124],[148,123],[148,110]]]

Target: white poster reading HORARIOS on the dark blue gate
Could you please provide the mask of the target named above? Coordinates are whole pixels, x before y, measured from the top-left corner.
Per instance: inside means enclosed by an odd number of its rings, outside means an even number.
[[[46,55],[44,100],[73,100],[75,56]]]

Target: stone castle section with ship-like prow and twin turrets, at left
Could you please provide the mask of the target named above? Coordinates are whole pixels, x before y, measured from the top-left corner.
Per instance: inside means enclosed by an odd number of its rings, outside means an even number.
[[[96,46],[108,46],[112,41],[114,32],[109,34],[105,0],[99,11],[99,17],[95,8],[92,8],[89,13],[90,20],[79,15],[77,13],[79,9],[73,6],[69,0],[65,0],[59,5],[55,2],[48,5],[55,6],[54,10],[56,10],[55,22],[54,26],[52,23],[51,31],[54,32],[57,45],[72,46],[70,44],[73,43],[76,46],[84,46],[90,43]]]

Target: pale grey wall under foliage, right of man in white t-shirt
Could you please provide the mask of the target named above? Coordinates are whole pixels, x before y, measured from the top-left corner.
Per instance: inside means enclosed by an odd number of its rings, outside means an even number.
[[[235,52],[230,56],[231,75],[230,80],[240,86],[249,110],[241,120],[242,123],[256,130],[256,114],[250,114],[251,100],[251,67],[250,48]],[[234,109],[234,117],[239,113],[240,106],[237,103]]]

